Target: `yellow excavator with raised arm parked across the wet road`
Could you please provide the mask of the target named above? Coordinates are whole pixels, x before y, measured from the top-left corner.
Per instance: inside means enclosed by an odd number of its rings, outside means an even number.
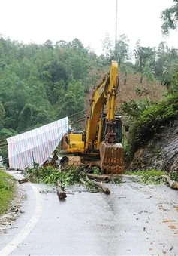
[[[122,173],[122,120],[115,114],[118,87],[119,67],[112,61],[110,72],[93,91],[85,131],[71,129],[62,139],[64,159],[80,156],[82,163],[99,166],[102,174]]]

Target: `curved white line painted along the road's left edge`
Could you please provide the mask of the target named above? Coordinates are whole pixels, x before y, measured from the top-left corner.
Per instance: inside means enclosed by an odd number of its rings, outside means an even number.
[[[35,225],[38,223],[39,218],[41,217],[42,205],[39,200],[38,189],[35,187],[35,185],[30,185],[34,191],[36,199],[35,213],[29,220],[29,223],[27,223],[26,226],[23,227],[22,230],[20,230],[20,233],[18,233],[17,236],[11,242],[9,242],[8,245],[6,245],[5,248],[2,249],[2,251],[0,251],[1,256],[7,256],[12,251],[14,251],[14,249],[17,248],[17,246],[20,245],[20,243],[23,242],[24,239],[26,239],[26,236],[28,236],[29,233],[33,230]]]

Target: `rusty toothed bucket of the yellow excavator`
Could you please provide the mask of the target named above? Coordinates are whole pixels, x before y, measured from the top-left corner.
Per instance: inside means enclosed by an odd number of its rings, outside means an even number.
[[[122,174],[123,147],[121,143],[101,142],[100,158],[102,174]]]

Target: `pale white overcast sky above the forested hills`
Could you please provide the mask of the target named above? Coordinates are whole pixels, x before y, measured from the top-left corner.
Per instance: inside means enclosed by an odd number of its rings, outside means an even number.
[[[0,0],[0,34],[19,42],[69,41],[77,37],[98,54],[106,33],[115,38],[116,0]],[[156,46],[161,35],[160,14],[172,0],[118,0],[118,35],[125,33],[134,48]],[[166,40],[178,48],[178,32]],[[165,39],[164,39],[165,40]]]

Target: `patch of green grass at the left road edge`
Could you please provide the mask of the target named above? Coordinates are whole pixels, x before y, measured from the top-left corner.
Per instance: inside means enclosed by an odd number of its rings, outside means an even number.
[[[9,203],[14,199],[14,192],[14,178],[0,170],[0,214],[5,214],[8,211]]]

